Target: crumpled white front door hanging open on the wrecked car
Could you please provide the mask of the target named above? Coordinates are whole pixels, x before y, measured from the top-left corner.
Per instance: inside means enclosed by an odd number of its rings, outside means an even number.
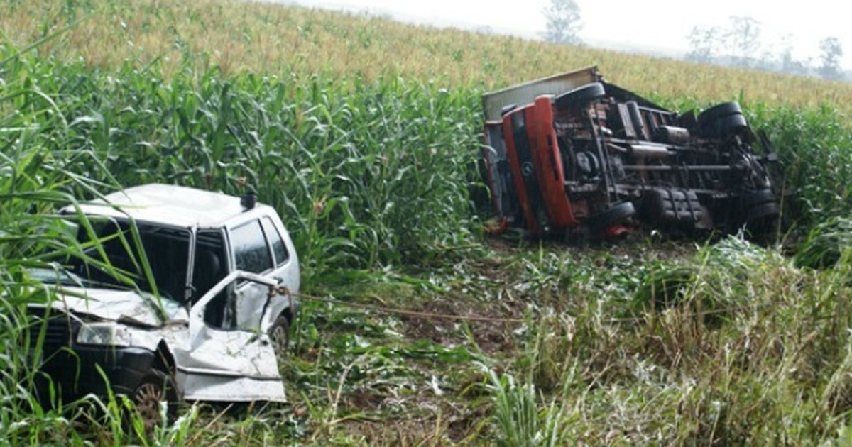
[[[209,317],[206,307],[221,299],[220,292],[236,293],[233,284],[245,283],[265,289],[268,300],[276,295],[277,284],[272,279],[236,271],[190,308],[187,340],[174,350],[177,385],[187,400],[285,401],[268,327],[259,323],[266,318],[258,317],[258,330],[224,329],[205,319]],[[262,307],[268,307],[267,303]]]

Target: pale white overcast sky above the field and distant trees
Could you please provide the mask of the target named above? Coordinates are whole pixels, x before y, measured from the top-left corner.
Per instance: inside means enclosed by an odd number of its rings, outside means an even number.
[[[539,37],[544,9],[550,0],[494,2],[483,0],[265,0],[306,6],[390,14],[398,20],[435,26],[489,27],[494,32]],[[797,59],[818,65],[819,43],[838,37],[844,53],[841,65],[852,68],[852,26],[844,3],[828,0],[575,0],[583,22],[579,37],[591,46],[646,49],[678,55],[688,51],[687,36],[694,26],[728,26],[733,15],[756,19],[760,42],[774,54],[781,38],[789,36]]]

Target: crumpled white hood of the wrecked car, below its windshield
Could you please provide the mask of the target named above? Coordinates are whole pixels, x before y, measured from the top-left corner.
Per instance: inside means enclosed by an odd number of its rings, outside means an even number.
[[[59,310],[85,313],[105,320],[122,321],[149,327],[188,321],[187,310],[175,301],[161,299],[163,314],[154,295],[134,290],[59,287],[51,306]]]

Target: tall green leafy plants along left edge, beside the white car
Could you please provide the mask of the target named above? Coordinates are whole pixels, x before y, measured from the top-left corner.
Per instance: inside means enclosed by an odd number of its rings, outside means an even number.
[[[73,234],[55,209],[74,203],[72,189],[91,187],[64,168],[89,154],[66,152],[67,108],[37,83],[15,77],[32,60],[9,59],[9,53],[0,57],[0,438],[12,444],[79,440],[65,415],[43,408],[32,394],[38,347],[23,330],[28,324],[23,311],[27,303],[49,300],[28,269],[52,268],[53,256],[75,250]]]

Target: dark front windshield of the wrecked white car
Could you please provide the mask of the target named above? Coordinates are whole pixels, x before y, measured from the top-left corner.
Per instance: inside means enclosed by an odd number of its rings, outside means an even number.
[[[75,258],[71,271],[92,283],[127,288],[127,278],[139,289],[153,292],[143,267],[143,253],[153,273],[158,293],[165,298],[184,301],[187,290],[187,265],[191,232],[185,228],[137,223],[141,248],[130,231],[130,223],[112,219],[90,218],[95,238],[107,255],[101,255],[97,244],[84,226],[78,227],[78,240],[88,259]]]

